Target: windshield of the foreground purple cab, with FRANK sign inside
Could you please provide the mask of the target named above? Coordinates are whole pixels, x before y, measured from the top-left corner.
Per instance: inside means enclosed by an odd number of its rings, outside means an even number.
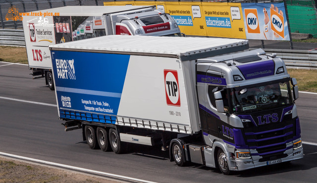
[[[233,113],[261,111],[293,103],[289,81],[229,90]]]

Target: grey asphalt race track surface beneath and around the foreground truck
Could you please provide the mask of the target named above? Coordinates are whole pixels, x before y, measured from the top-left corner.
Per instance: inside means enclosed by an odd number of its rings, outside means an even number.
[[[158,147],[135,146],[126,154],[89,149],[81,130],[64,132],[53,106],[3,97],[56,104],[44,79],[32,80],[26,65],[0,62],[0,152],[162,183],[193,182],[316,182],[317,146],[304,144],[305,157],[224,176],[218,170],[191,164],[178,167]],[[296,100],[302,139],[317,143],[314,118],[317,94],[300,93]]]

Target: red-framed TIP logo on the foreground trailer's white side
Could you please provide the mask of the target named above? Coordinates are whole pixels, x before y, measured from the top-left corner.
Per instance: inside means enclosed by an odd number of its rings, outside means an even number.
[[[167,105],[179,107],[180,97],[177,71],[164,69],[164,82]]]

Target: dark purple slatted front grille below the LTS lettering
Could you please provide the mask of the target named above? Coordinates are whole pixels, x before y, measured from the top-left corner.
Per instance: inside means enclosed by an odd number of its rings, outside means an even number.
[[[244,135],[249,149],[256,149],[258,153],[252,155],[262,156],[264,159],[278,157],[289,149],[286,143],[293,140],[296,134],[295,119],[286,115],[282,122],[255,126],[252,122],[244,123]]]

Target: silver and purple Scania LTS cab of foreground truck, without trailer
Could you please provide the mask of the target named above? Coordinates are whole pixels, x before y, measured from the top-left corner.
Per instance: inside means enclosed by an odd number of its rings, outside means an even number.
[[[214,149],[221,147],[229,157],[223,156],[220,170],[303,158],[296,85],[284,62],[262,49],[198,60],[201,126],[212,147],[205,150],[215,157]],[[207,158],[208,164],[215,162]]]

